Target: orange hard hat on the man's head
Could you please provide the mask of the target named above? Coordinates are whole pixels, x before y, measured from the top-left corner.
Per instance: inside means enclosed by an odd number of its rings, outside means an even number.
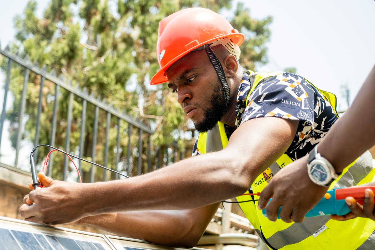
[[[188,8],[167,16],[159,23],[156,44],[157,62],[160,70],[150,84],[167,82],[165,70],[178,59],[205,45],[222,38],[240,46],[245,39],[225,18],[209,9]]]

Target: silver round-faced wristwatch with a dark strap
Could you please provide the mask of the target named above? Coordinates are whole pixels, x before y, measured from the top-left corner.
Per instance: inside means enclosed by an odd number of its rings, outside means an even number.
[[[310,179],[324,187],[329,187],[339,177],[332,164],[317,152],[317,147],[314,147],[309,153],[307,170]]]

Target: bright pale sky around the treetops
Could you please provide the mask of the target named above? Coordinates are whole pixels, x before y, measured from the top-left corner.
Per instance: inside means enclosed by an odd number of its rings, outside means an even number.
[[[38,0],[38,15],[50,0]],[[270,63],[257,70],[297,73],[320,88],[334,92],[338,109],[347,108],[340,86],[347,84],[353,101],[375,64],[374,0],[235,0],[251,9],[254,18],[273,16],[267,43]],[[13,18],[27,0],[8,1],[0,9],[0,42],[4,48],[15,35]]]

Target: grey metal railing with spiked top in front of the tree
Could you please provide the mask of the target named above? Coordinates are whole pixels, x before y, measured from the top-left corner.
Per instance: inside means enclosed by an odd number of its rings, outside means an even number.
[[[41,117],[43,115],[51,115],[49,119],[49,145],[57,147],[56,141],[58,140],[62,142],[62,140],[64,140],[64,145],[62,148],[63,150],[65,150],[66,152],[75,153],[77,156],[80,157],[91,157],[92,161],[94,162],[96,161],[100,153],[101,155],[99,158],[101,159],[101,163],[103,166],[108,167],[108,165],[111,165],[113,169],[116,169],[117,171],[122,171],[124,172],[124,174],[129,176],[135,174],[140,175],[145,172],[150,172],[153,169],[157,169],[162,166],[168,165],[169,163],[172,163],[175,160],[177,160],[178,156],[179,159],[183,159],[184,153],[177,152],[177,147],[175,146],[165,146],[159,148],[153,147],[153,144],[151,142],[151,135],[153,131],[150,129],[150,126],[148,125],[147,121],[140,121],[138,118],[127,115],[126,112],[121,112],[120,109],[113,108],[113,106],[110,103],[107,103],[106,100],[101,100],[100,98],[95,98],[93,95],[88,94],[86,89],[80,90],[77,87],[78,85],[74,87],[71,81],[67,82],[64,77],[58,77],[53,70],[48,73],[45,66],[39,68],[37,64],[32,63],[28,57],[21,58],[19,55],[13,54],[12,52],[10,52],[8,46],[5,49],[1,49],[0,46],[0,54],[3,57],[5,57],[5,59],[7,59],[5,69],[3,65],[3,72],[6,72],[6,79],[3,89],[3,106],[0,117],[0,164],[7,165],[15,169],[22,169],[24,171],[28,171],[28,162],[25,162],[24,156],[25,152],[21,153],[21,151],[25,150],[25,148],[30,150],[32,148],[30,147],[30,144],[32,144],[33,147],[34,145],[40,144],[42,129]],[[7,106],[9,106],[9,103],[14,103],[16,101],[9,101],[9,94],[11,94],[9,88],[10,86],[12,86],[12,69],[14,69],[14,67],[18,67],[18,70],[20,72],[23,71],[23,84],[21,87],[20,98],[17,99],[17,103],[19,103],[19,110],[15,112],[15,116],[17,116],[17,118],[13,119],[12,121],[12,127],[15,127],[15,129],[8,129],[9,131],[14,130],[15,132],[17,132],[17,139],[14,139],[13,136],[13,144],[15,144],[15,146],[13,145],[15,148],[15,153],[13,152],[13,155],[15,154],[15,156],[14,164],[12,164],[9,162],[10,160],[7,159],[9,157],[9,154],[2,152],[2,149],[9,144],[7,143],[5,145],[4,143],[6,139],[4,138],[4,135],[6,134],[5,124],[7,120]],[[24,138],[24,127],[26,126],[26,123],[29,122],[29,120],[26,120],[25,118],[28,116],[26,114],[26,107],[28,100],[30,98],[33,98],[30,97],[28,94],[28,87],[30,88],[30,74],[34,74],[33,78],[40,78],[38,103],[35,107],[36,120],[34,121],[35,126],[33,126],[35,130],[33,140]],[[20,78],[21,76],[19,76],[17,79]],[[54,91],[49,91],[47,94],[45,93],[46,82],[48,82],[50,88],[51,84],[54,86]],[[19,84],[19,81],[14,81],[13,84],[17,85]],[[62,92],[64,92],[66,96],[66,99],[64,100],[61,100]],[[52,114],[46,114],[45,112],[43,113],[42,107],[43,102],[45,102],[46,98],[49,100],[50,103],[52,103],[53,100]],[[59,102],[66,103],[66,110],[59,110]],[[79,125],[80,136],[78,145],[72,148],[71,133],[73,124],[73,112],[77,113],[77,109],[73,107],[74,102],[79,103],[80,105],[80,122],[75,121],[74,123],[75,125]],[[89,106],[90,110],[88,110]],[[90,112],[92,110],[93,114]],[[66,112],[66,117],[59,117],[59,113],[63,112]],[[89,116],[92,120],[92,123],[90,122],[90,124],[88,124],[87,122]],[[30,117],[30,115],[28,117]],[[10,123],[10,121],[7,122]],[[60,126],[60,123],[65,124],[65,130],[60,129],[59,132],[58,127]],[[87,135],[88,129],[90,129],[90,138],[88,138]],[[116,130],[116,142],[115,145],[111,147],[110,133],[113,132],[113,130]],[[126,132],[126,135],[124,135],[124,132]],[[57,133],[62,134],[57,135]],[[101,137],[104,138],[101,143],[98,142],[99,133],[101,134]],[[29,136],[29,138],[30,137],[32,136]],[[127,140],[124,140],[124,137],[126,137]],[[46,138],[43,139],[46,140]],[[84,155],[84,148],[85,146],[87,146],[88,141],[90,141],[91,147],[86,147],[86,155]],[[62,145],[62,143],[60,144]],[[100,150],[98,150],[98,147],[100,148]],[[111,150],[113,150],[113,153],[115,155],[113,155],[112,152],[110,152],[110,148]],[[88,151],[91,151],[89,156],[87,155]],[[23,158],[20,163],[21,154]],[[142,156],[144,156],[146,159],[142,159]],[[112,158],[112,162],[110,158]],[[5,159],[7,160],[5,161]],[[40,157],[38,158],[38,150],[34,154],[34,159],[40,160]],[[69,170],[71,166],[69,165],[68,160],[68,157],[64,156],[61,177],[62,180],[67,180],[69,173],[71,173],[71,171]],[[52,154],[49,157],[49,162],[53,162]],[[84,174],[82,167],[83,163],[79,162],[78,164],[82,175]],[[49,164],[47,170],[47,174],[50,176],[52,175],[51,166],[52,164]],[[96,174],[94,166],[91,166],[89,174],[86,172],[85,181],[94,182],[100,180],[105,181],[113,178],[119,178],[118,174],[109,177],[107,172],[108,171],[103,171],[99,177],[99,175]]]

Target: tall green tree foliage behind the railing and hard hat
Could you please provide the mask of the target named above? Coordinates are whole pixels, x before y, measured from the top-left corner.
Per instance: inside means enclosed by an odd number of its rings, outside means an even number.
[[[184,132],[191,130],[176,95],[165,84],[149,86],[149,79],[159,69],[156,60],[156,41],[158,23],[166,16],[180,9],[201,6],[216,12],[229,9],[227,0],[52,0],[44,12],[43,18],[37,18],[36,1],[29,1],[22,16],[15,19],[17,34],[12,44],[13,51],[21,51],[21,56],[28,55],[40,67],[60,72],[73,85],[87,88],[89,94],[107,99],[114,108],[120,108],[127,114],[141,116],[149,120],[155,133],[151,136],[156,148],[167,148],[174,144],[184,147]],[[246,69],[254,69],[254,63],[266,62],[264,43],[270,35],[267,25],[271,18],[255,20],[250,11],[239,3],[231,23],[245,33],[246,40],[241,46],[241,64]],[[2,62],[5,69],[6,62]],[[40,76],[30,74],[27,89],[27,111],[29,121],[25,126],[25,136],[33,141],[35,132],[36,107],[40,90]],[[15,96],[13,111],[19,110],[23,69],[13,67],[10,90]],[[51,133],[54,84],[45,80],[40,129],[40,143],[49,143]],[[67,110],[69,93],[60,93],[58,104],[57,138],[55,145],[64,147],[67,129]],[[73,118],[70,135],[72,151],[77,151],[80,138],[81,101],[74,97]],[[8,118],[15,120],[16,112],[9,111]],[[13,114],[14,113],[14,114]],[[13,115],[13,116],[12,116]],[[103,162],[105,141],[105,112],[99,114],[98,144],[96,162]],[[13,117],[13,118],[12,118]],[[91,156],[93,137],[94,107],[87,107],[87,125],[84,156]],[[117,120],[111,120],[109,136],[109,167],[114,168]],[[121,126],[121,159],[126,156],[128,146],[127,124]],[[139,139],[147,141],[147,135],[139,138],[133,129],[131,143]],[[177,141],[177,142],[176,142]],[[145,151],[147,147],[144,146]],[[46,149],[45,149],[46,150]],[[40,149],[39,155],[47,152]],[[134,150],[133,150],[134,151]],[[133,152],[135,155],[137,152]],[[143,152],[142,157],[145,157]],[[154,153],[156,154],[156,153]],[[189,153],[187,153],[189,154]],[[55,177],[60,177],[62,156],[54,157]],[[133,165],[136,164],[133,157]],[[128,159],[130,160],[130,159]],[[144,161],[146,162],[146,161]],[[84,165],[84,171],[90,166]],[[99,171],[97,171],[99,172]]]

